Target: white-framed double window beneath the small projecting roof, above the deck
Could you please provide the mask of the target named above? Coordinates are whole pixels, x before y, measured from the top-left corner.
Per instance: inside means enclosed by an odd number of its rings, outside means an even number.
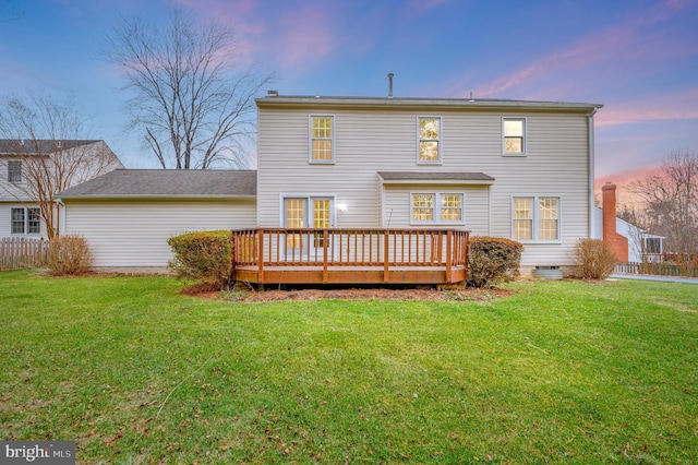
[[[464,194],[449,192],[411,193],[410,224],[465,224]]]

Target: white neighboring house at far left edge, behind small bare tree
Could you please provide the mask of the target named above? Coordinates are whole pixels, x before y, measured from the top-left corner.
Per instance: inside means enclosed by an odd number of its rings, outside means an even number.
[[[46,239],[38,198],[116,168],[123,165],[104,141],[0,140],[0,238]]]

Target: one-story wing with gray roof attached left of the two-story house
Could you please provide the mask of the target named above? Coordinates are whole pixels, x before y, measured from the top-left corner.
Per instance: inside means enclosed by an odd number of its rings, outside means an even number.
[[[60,194],[61,231],[84,236],[94,266],[164,269],[167,239],[254,227],[256,171],[117,169]]]

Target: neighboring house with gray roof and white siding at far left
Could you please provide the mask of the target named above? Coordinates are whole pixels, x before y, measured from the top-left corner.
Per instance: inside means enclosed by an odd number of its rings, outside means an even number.
[[[0,140],[0,238],[47,238],[46,223],[36,199],[29,194],[35,190],[29,186],[33,182],[31,172],[37,164],[50,167],[56,151],[62,151],[67,157],[80,156],[85,160],[84,166],[73,170],[71,186],[111,169],[123,168],[104,141]],[[96,159],[98,163],[93,163]],[[50,172],[50,168],[46,172]]]

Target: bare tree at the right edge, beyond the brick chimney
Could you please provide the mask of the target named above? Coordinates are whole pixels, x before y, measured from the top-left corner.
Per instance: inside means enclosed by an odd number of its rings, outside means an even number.
[[[674,151],[661,169],[635,181],[631,190],[645,200],[646,228],[666,237],[679,264],[698,258],[698,154]]]

